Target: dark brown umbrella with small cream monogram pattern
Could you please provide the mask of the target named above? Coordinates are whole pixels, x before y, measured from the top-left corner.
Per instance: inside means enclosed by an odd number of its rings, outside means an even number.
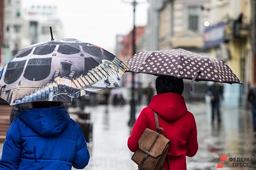
[[[191,90],[193,81],[242,84],[224,61],[205,57],[182,48],[137,52],[128,59],[126,64],[130,67],[127,72],[191,79]]]

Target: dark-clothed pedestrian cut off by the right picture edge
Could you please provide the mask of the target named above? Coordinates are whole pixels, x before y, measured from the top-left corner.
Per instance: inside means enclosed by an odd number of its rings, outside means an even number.
[[[251,103],[253,132],[254,132],[254,135],[256,136],[256,85],[253,85],[249,89],[247,99]]]

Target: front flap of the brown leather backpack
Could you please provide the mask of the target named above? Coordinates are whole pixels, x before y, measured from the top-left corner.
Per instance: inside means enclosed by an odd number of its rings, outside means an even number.
[[[155,140],[157,137],[158,139]],[[160,133],[146,128],[142,133],[138,143],[140,150],[156,158],[164,152],[166,145],[170,146],[171,141],[163,135],[160,135]],[[154,145],[152,145],[152,143],[154,143]],[[148,152],[149,150],[150,152]]]

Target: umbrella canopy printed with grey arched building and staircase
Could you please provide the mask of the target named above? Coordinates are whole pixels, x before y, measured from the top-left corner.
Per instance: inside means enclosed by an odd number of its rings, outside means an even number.
[[[0,71],[0,96],[11,106],[25,102],[72,102],[100,89],[119,87],[129,67],[101,47],[59,39],[20,50]]]

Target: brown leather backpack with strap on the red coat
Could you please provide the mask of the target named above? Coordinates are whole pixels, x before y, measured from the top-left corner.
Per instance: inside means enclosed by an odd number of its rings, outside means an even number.
[[[164,129],[159,127],[157,113],[154,112],[156,129],[146,128],[138,143],[139,147],[132,155],[132,160],[143,170],[164,170],[163,165],[167,159],[171,141],[164,135]],[[163,132],[163,133],[161,133]]]

